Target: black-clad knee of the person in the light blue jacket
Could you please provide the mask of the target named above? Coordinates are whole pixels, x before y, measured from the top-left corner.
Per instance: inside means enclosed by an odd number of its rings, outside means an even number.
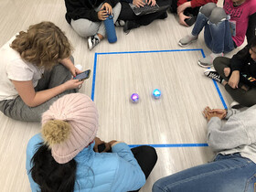
[[[147,178],[152,169],[155,166],[155,163],[157,161],[157,155],[155,152],[155,148],[152,146],[148,146],[148,145],[141,145],[138,147],[134,147],[133,149],[131,149],[133,152],[133,155],[135,157],[135,159],[137,160],[138,164],[141,166],[143,172],[144,172],[144,176],[145,178]],[[139,191],[135,190],[133,192]]]

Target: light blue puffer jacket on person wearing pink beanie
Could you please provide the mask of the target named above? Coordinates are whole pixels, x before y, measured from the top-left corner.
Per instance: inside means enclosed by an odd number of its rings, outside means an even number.
[[[27,144],[27,175],[33,192],[40,191],[31,177],[31,158],[37,151],[37,144],[43,142],[36,134]],[[80,192],[125,192],[144,186],[145,176],[124,143],[112,146],[112,153],[95,153],[93,144],[84,148],[74,159],[77,162],[77,175],[74,191]]]

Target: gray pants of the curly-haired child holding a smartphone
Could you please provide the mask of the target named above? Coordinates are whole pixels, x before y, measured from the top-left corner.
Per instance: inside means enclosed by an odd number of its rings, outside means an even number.
[[[72,58],[71,60],[73,61]],[[45,71],[43,77],[38,80],[35,91],[43,91],[57,87],[67,80],[70,80],[71,76],[72,75],[69,69],[64,67],[62,64],[58,64],[52,70]],[[0,111],[4,112],[6,116],[15,120],[40,122],[42,113],[46,112],[54,101],[57,101],[63,95],[72,92],[77,92],[77,90],[64,91],[50,100],[38,105],[37,107],[28,107],[21,97],[17,96],[14,100],[0,101]]]

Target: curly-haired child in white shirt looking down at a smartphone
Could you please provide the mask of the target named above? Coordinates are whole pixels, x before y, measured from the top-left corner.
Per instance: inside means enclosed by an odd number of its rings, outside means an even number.
[[[82,81],[71,79],[80,72],[59,27],[51,22],[30,26],[0,48],[0,111],[38,122],[53,101],[77,91]]]

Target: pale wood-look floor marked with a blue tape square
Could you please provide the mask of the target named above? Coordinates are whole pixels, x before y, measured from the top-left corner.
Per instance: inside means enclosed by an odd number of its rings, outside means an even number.
[[[95,75],[80,92],[92,96],[97,104],[101,139],[156,146],[158,162],[142,192],[151,191],[160,177],[211,160],[213,153],[204,146],[207,122],[201,112],[207,105],[223,108],[223,103],[213,81],[197,66],[202,53],[209,53],[203,33],[196,43],[180,48],[178,40],[191,27],[179,26],[177,17],[168,13],[165,20],[128,35],[116,28],[115,44],[103,40],[90,51],[87,39],[66,22],[63,0],[2,0],[0,10],[0,47],[17,32],[41,21],[52,21],[65,31],[75,48],[75,64]],[[151,95],[156,88],[162,91],[159,100]],[[221,85],[219,90],[229,107],[231,98]],[[138,103],[129,100],[133,92],[140,95]],[[17,122],[3,113],[0,124],[0,191],[30,191],[26,146],[29,138],[40,132],[40,124]]]

